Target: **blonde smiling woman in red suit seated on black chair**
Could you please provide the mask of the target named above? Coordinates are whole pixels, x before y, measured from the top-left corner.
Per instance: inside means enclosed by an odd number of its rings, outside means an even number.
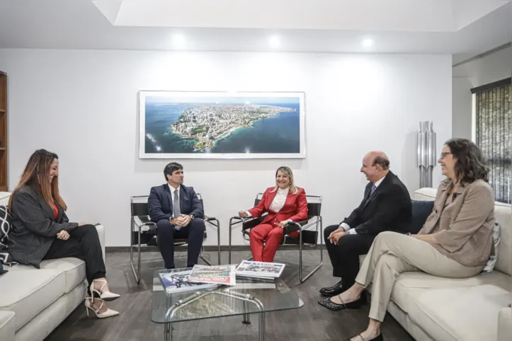
[[[238,213],[242,218],[257,218],[265,212],[268,212],[265,219],[249,233],[251,253],[256,262],[273,262],[288,221],[307,219],[306,192],[300,187],[295,187],[290,168],[279,167],[275,172],[275,187],[267,188],[255,207]],[[295,231],[290,233],[290,236],[298,237],[299,233]]]

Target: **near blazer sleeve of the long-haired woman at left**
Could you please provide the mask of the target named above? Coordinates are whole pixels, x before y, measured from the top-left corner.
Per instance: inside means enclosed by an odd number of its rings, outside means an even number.
[[[16,214],[25,229],[36,236],[55,238],[60,231],[70,232],[78,226],[78,223],[69,223],[67,219],[64,219],[66,222],[59,224],[47,218],[38,198],[21,190],[14,192],[11,211]]]

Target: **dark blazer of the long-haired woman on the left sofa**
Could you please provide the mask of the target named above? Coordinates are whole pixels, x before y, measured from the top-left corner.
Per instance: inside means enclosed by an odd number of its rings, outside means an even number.
[[[13,229],[9,233],[8,247],[13,260],[39,268],[57,233],[62,230],[70,232],[78,226],[78,223],[69,222],[59,204],[57,207],[59,215],[55,219],[52,207],[30,185],[13,193],[13,203],[9,207]]]

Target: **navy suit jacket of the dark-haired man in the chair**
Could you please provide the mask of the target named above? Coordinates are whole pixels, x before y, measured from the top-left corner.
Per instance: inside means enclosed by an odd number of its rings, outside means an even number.
[[[147,209],[152,221],[157,222],[161,219],[169,220],[173,215],[173,201],[169,185],[152,187],[147,200]],[[195,194],[193,187],[180,185],[180,209],[182,214],[195,214],[196,217],[203,219],[203,205]]]

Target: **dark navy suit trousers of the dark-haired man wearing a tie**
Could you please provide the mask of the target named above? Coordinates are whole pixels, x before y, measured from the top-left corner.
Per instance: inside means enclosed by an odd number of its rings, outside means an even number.
[[[199,218],[190,221],[188,226],[182,226],[179,231],[176,231],[171,221],[167,219],[157,221],[157,243],[161,257],[164,258],[165,267],[174,268],[174,239],[187,239],[187,267],[198,264],[205,229],[205,222]]]

